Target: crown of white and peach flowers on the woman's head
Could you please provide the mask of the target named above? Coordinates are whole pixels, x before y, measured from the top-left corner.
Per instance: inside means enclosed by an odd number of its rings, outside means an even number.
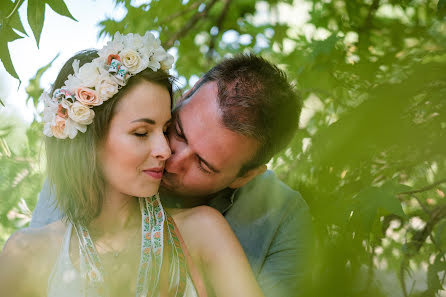
[[[93,122],[93,107],[107,101],[125,86],[129,77],[146,68],[153,71],[169,70],[173,56],[160,45],[160,40],[150,32],[121,35],[117,32],[98,51],[98,58],[79,68],[74,60],[74,74],[70,74],[62,88],[50,97],[43,92],[43,134],[48,137],[73,139],[78,131],[87,131]]]

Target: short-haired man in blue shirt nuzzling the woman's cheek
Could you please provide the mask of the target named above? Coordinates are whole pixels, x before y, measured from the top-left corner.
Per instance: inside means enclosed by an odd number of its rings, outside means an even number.
[[[228,220],[267,297],[294,296],[305,273],[311,218],[266,163],[295,133],[301,103],[285,74],[255,55],[212,68],[173,111],[167,206],[210,205]],[[31,226],[56,220],[46,184]]]

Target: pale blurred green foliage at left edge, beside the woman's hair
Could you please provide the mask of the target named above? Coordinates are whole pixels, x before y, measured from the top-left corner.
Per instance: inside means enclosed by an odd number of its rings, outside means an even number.
[[[35,110],[43,92],[40,78],[56,58],[37,70],[26,88],[27,101],[32,101]],[[45,178],[42,124],[38,117],[36,114],[27,126],[20,119],[0,114],[0,247],[31,220],[31,210]]]

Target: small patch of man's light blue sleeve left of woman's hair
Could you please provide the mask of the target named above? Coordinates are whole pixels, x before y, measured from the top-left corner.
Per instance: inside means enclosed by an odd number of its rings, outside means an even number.
[[[36,208],[29,226],[32,228],[42,227],[55,222],[61,218],[61,213],[56,206],[54,191],[51,191],[48,179],[45,180],[39,194]]]

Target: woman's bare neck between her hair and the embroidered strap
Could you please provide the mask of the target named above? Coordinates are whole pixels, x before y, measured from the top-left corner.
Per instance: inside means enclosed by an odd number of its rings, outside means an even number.
[[[90,223],[96,234],[113,234],[138,228],[141,224],[139,200],[116,190],[106,189],[101,212]]]

